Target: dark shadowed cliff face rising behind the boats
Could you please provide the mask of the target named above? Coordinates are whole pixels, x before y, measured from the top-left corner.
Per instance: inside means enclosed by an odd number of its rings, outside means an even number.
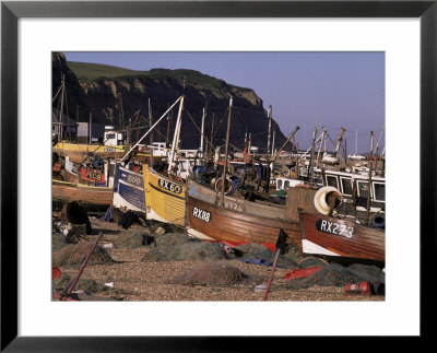
[[[121,70],[121,71],[119,71]],[[120,68],[86,63],[66,62],[62,54],[52,55],[54,95],[59,89],[62,73],[66,75],[66,90],[69,115],[78,121],[93,121],[106,125],[126,126],[130,117],[141,109],[145,132],[149,128],[149,102],[153,121],[180,96],[185,95],[182,129],[180,134],[184,149],[197,149],[200,144],[202,109],[206,108],[204,134],[210,139],[213,130],[213,145],[224,144],[227,127],[229,96],[233,97],[231,143],[244,148],[245,132],[252,134],[252,145],[261,150],[267,146],[268,119],[262,101],[250,89],[237,87],[223,80],[211,78],[192,70],[153,69],[131,71]],[[94,72],[102,71],[102,75]],[[91,73],[93,72],[93,73]],[[94,77],[93,77],[94,74]],[[56,103],[54,103],[56,108]],[[177,118],[176,106],[170,116],[169,138]],[[198,128],[196,128],[196,122]],[[154,131],[154,141],[165,141],[167,119],[163,119]],[[285,141],[277,123],[275,145]],[[135,134],[134,134],[135,136]],[[134,140],[134,137],[132,137]],[[145,140],[149,142],[149,140]]]

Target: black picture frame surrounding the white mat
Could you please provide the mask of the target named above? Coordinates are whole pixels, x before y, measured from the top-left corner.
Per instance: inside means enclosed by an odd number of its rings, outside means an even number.
[[[1,352],[209,352],[259,350],[261,337],[19,337],[17,21],[20,17],[418,17],[421,20],[421,338],[436,252],[437,1],[2,1],[1,3]],[[405,146],[408,148],[408,146]],[[405,173],[412,173],[405,170]],[[405,191],[408,205],[408,191]],[[408,286],[408,279],[405,279]],[[408,287],[405,287],[408,290]],[[429,301],[428,301],[429,299]],[[408,305],[408,303],[405,303]],[[265,318],[268,321],[268,318]],[[64,325],[66,318],[59,318]],[[281,342],[281,340],[280,340]],[[279,348],[275,342],[275,346]]]

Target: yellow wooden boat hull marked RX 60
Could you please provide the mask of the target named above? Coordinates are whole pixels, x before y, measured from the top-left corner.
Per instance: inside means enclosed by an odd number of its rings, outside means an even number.
[[[178,225],[185,224],[186,184],[170,174],[143,165],[145,217]]]

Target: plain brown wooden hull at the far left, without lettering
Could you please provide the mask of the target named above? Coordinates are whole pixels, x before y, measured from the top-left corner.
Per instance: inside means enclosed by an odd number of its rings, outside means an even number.
[[[51,181],[51,198],[54,201],[79,201],[90,205],[110,205],[113,187],[96,187],[68,181]]]

